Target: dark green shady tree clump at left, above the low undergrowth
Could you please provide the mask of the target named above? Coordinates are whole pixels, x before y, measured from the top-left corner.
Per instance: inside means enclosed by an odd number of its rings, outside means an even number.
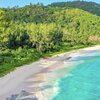
[[[18,47],[30,46],[30,37],[26,30],[16,30],[8,36],[8,48],[16,49]]]

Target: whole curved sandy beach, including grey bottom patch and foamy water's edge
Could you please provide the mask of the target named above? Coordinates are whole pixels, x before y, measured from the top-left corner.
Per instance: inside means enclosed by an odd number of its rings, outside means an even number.
[[[76,64],[72,59],[99,50],[100,45],[73,50],[17,68],[0,78],[0,100],[51,100],[56,80]]]

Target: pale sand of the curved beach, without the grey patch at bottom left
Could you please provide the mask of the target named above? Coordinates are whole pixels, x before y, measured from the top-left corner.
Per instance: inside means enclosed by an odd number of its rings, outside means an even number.
[[[100,50],[100,45],[73,50],[17,68],[15,71],[0,78],[0,100],[6,100],[7,97],[20,93],[22,90],[35,93],[39,100],[49,100],[46,96],[48,95],[47,92],[50,92],[48,91],[50,88],[45,86],[48,85],[49,81],[55,84],[56,75],[59,77],[59,73],[55,75],[53,71],[63,70],[68,57],[77,57],[94,50]],[[72,63],[67,64],[69,66]],[[62,73],[61,75],[63,76]],[[46,90],[46,88],[48,89]],[[56,88],[53,87],[52,89],[54,92],[56,91]],[[51,91],[49,94],[52,95],[53,92]]]

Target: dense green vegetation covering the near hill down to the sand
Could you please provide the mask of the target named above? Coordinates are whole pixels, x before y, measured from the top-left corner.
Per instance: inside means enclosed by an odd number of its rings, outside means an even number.
[[[0,9],[0,76],[55,52],[100,42],[100,17],[81,9],[28,5]]]

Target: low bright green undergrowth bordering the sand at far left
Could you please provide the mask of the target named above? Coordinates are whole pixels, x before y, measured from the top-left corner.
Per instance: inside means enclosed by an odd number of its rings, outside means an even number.
[[[0,50],[0,77],[17,67],[38,60],[40,55],[33,49]]]

